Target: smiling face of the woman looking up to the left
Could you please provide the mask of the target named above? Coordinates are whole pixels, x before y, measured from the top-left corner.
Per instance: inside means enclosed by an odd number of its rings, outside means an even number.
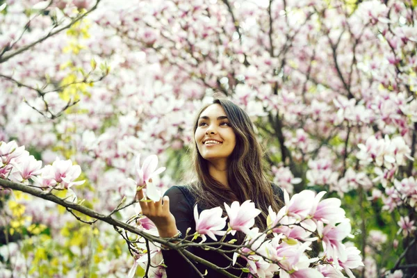
[[[227,161],[236,146],[236,135],[220,104],[211,104],[200,114],[194,137],[199,154],[211,162]]]

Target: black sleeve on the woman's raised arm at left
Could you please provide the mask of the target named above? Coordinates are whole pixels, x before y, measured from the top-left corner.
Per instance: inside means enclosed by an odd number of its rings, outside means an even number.
[[[178,186],[172,186],[168,189],[164,196],[170,197],[170,211],[174,215],[177,229],[181,231],[183,236],[186,230],[191,227],[195,230],[195,221],[193,217],[193,204],[183,194]],[[193,248],[186,250],[195,253]],[[193,267],[177,252],[177,250],[162,250],[162,256],[165,265],[167,265],[167,278],[173,277],[198,277]]]

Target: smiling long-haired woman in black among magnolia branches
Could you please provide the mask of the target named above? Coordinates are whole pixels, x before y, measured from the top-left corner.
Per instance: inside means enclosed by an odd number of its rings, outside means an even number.
[[[279,211],[282,204],[282,191],[271,185],[265,177],[261,163],[261,147],[256,140],[250,117],[233,102],[227,99],[214,99],[199,112],[194,126],[195,154],[194,165],[197,182],[191,186],[173,186],[166,191],[160,202],[140,202],[142,213],[156,225],[163,238],[195,232],[193,208],[198,204],[199,212],[206,208],[220,206],[224,202],[250,199],[262,213],[256,218],[255,226],[266,228],[268,206]],[[142,199],[140,191],[138,198]],[[225,228],[226,229],[226,228]],[[232,239],[230,235],[227,240]],[[243,234],[237,234],[239,242]],[[222,268],[230,265],[230,260],[214,251],[188,248],[193,254]],[[163,258],[167,265],[167,277],[198,277],[197,272],[176,250],[164,250]],[[243,266],[245,263],[243,261]],[[201,273],[205,265],[195,263]],[[239,276],[240,270],[227,271]],[[208,269],[206,277],[223,277]]]

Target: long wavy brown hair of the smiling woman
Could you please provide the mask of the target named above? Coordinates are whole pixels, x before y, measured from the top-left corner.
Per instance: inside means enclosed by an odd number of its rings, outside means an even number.
[[[238,201],[240,204],[250,199],[262,213],[255,220],[255,227],[261,231],[266,229],[268,206],[277,212],[282,206],[282,201],[273,194],[271,183],[268,181],[262,163],[262,149],[256,140],[254,126],[250,117],[242,108],[232,101],[224,98],[216,98],[212,104],[220,104],[229,119],[231,128],[236,135],[236,146],[228,158],[227,179],[229,187],[216,181],[208,172],[208,161],[204,159],[197,149],[197,142],[193,149],[193,163],[197,174],[197,182],[191,186],[191,193],[198,204],[206,208],[220,206],[224,208],[224,202]],[[204,106],[195,120],[194,133],[198,126],[198,118],[210,105]],[[194,136],[193,136],[194,138]]]

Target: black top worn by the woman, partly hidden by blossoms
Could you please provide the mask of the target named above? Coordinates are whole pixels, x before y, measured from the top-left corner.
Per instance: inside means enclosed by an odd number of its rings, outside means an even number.
[[[275,195],[279,196],[279,199],[284,201],[284,193],[278,186],[275,186],[275,184],[272,184],[272,189],[274,191]],[[195,197],[190,193],[190,189],[188,186],[172,186],[169,188],[164,196],[167,195],[170,197],[170,211],[172,215],[174,215],[177,228],[183,236],[186,235],[186,230],[188,227],[191,228],[190,232],[188,234],[194,234],[195,233],[195,220],[194,220],[194,206],[195,206]],[[201,213],[205,208],[202,206],[198,206],[198,211]],[[225,227],[224,229],[227,229]],[[213,242],[211,238],[208,236],[206,242]],[[216,236],[218,240],[220,240],[221,236]],[[230,234],[227,235],[225,242],[233,239],[234,236],[231,236]],[[201,238],[197,239],[197,242],[199,242]],[[205,259],[206,261],[210,261],[211,263],[214,263],[215,265],[220,266],[221,268],[226,268],[231,264],[231,261],[219,252],[215,251],[207,251],[203,250],[202,248],[197,247],[188,247],[186,250],[189,252],[192,252],[196,256],[199,256],[202,259]],[[222,248],[222,250],[225,250]],[[165,265],[167,265],[167,277],[168,278],[175,278],[175,277],[199,277],[197,272],[193,269],[193,267],[183,259],[183,256],[177,252],[177,250],[162,250],[163,259],[165,262]],[[231,258],[233,256],[233,253],[227,253],[228,256]],[[241,258],[238,259],[238,263],[241,263],[243,267],[245,267],[245,261]],[[208,271],[207,275],[204,277],[211,278],[221,278],[226,277],[224,275],[221,275],[220,272],[217,272],[211,268],[208,268],[208,266],[203,265],[202,263],[195,263],[194,265],[197,267],[199,272],[201,272],[204,275],[204,272],[206,270]],[[233,275],[240,276],[242,274],[241,270],[234,270],[231,268],[227,269],[227,272],[230,272]]]

